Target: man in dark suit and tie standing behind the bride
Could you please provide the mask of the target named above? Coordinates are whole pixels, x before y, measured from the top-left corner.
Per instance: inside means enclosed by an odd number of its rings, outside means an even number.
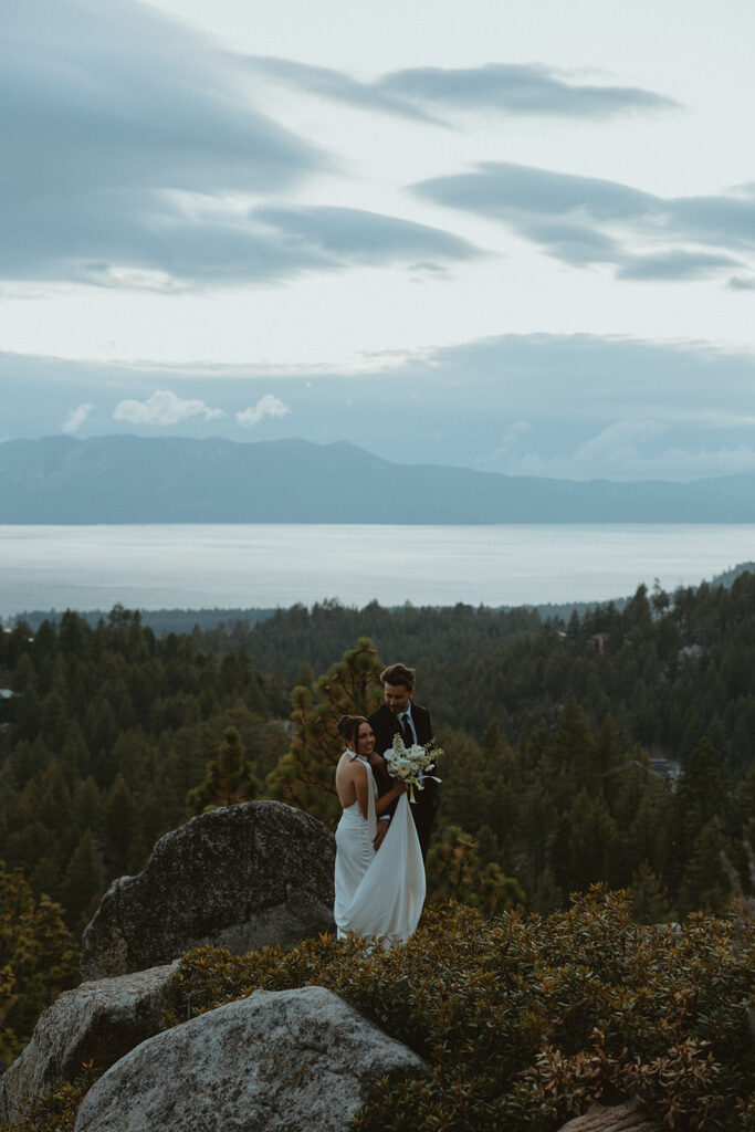
[[[414,669],[402,663],[389,664],[380,672],[380,683],[383,684],[385,703],[369,717],[369,724],[375,731],[375,749],[380,755],[385,754],[393,746],[394,735],[401,735],[407,747],[414,743],[419,743],[423,747],[432,739],[432,723],[427,707],[422,707],[413,701]],[[432,766],[429,766],[428,770],[434,773]],[[415,791],[415,800],[411,803],[411,811],[420,839],[422,860],[426,860],[432,822],[440,798],[438,797],[438,783],[431,778],[423,778],[422,787],[422,790]],[[386,790],[380,789],[381,795],[385,792]],[[388,813],[393,814],[395,808],[396,804],[394,803]],[[378,822],[376,849],[387,829],[387,821]]]

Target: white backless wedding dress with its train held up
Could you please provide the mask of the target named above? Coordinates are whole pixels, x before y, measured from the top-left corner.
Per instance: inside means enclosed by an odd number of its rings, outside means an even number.
[[[351,752],[349,752],[351,754]],[[378,852],[377,787],[366,758],[352,755],[367,773],[367,820],[359,803],[346,806],[335,831],[335,906],[338,938],[349,932],[378,935],[385,946],[412,934],[424,903],[424,863],[407,795],[402,794]]]

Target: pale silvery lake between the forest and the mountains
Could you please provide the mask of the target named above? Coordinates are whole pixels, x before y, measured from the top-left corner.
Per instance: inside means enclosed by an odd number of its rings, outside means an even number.
[[[745,524],[0,526],[0,616],[32,609],[607,601],[755,559]]]

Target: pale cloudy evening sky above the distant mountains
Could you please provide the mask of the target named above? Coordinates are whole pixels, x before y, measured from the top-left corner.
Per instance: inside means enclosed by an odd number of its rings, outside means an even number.
[[[0,441],[755,473],[750,0],[0,9]]]

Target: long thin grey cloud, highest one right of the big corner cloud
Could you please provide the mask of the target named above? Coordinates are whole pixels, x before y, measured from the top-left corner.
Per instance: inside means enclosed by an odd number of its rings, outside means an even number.
[[[417,67],[360,83],[343,71],[290,59],[248,57],[249,69],[349,106],[441,123],[439,113],[499,111],[517,117],[611,118],[674,109],[670,98],[632,86],[586,85],[538,63],[492,62],[482,67]]]

